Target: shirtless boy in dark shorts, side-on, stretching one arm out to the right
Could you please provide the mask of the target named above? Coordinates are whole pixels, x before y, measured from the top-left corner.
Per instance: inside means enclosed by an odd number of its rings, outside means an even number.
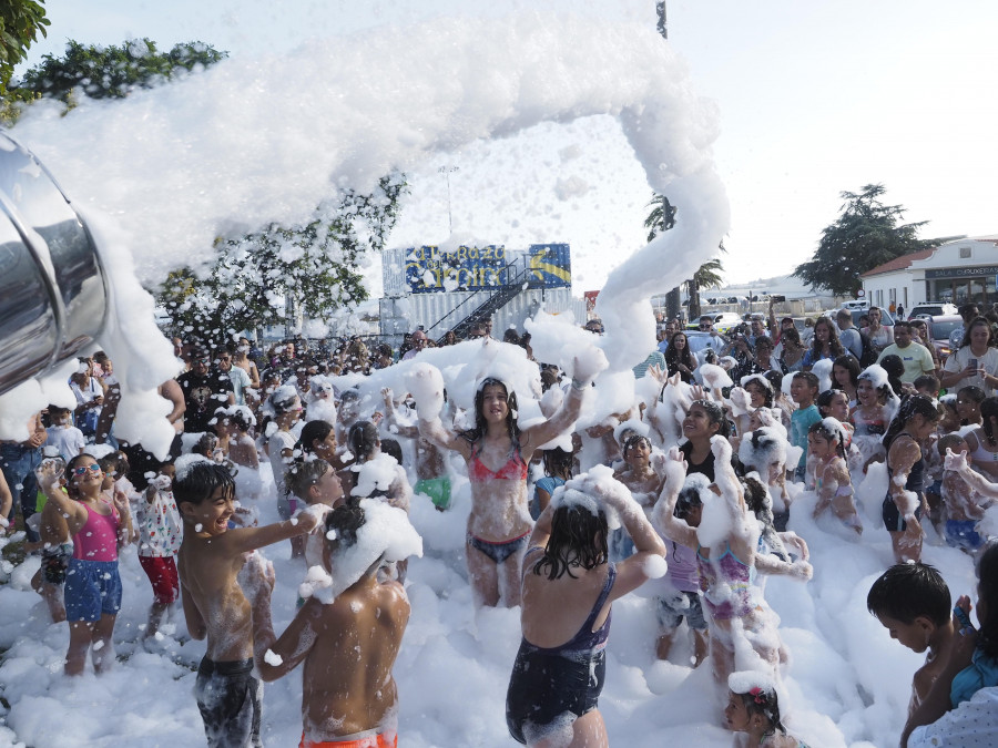
[[[262,527],[230,530],[235,483],[223,467],[201,457],[177,460],[173,495],[184,520],[177,553],[184,616],[192,638],[207,638],[194,696],[207,745],[259,746],[263,687],[253,677],[249,603],[237,582],[245,554],[313,530],[302,514]]]

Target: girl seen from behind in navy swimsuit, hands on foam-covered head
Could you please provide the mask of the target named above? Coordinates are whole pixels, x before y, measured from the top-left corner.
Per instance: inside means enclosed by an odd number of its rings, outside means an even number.
[[[585,475],[569,489],[541,513],[523,559],[523,638],[506,721],[510,735],[530,746],[609,745],[599,697],[610,607],[664,566],[665,545],[622,484]],[[608,511],[620,516],[638,549],[618,564],[608,560]]]

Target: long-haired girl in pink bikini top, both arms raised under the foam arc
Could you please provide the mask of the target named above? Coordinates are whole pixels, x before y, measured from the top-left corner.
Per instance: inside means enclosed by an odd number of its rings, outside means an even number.
[[[475,428],[458,436],[444,428],[439,409],[427,418],[426,406],[417,400],[419,432],[437,447],[460,453],[468,464],[471,514],[467,561],[477,605],[520,604],[520,566],[533,529],[527,504],[527,465],[534,451],[579,417],[582,395],[595,373],[584,371],[577,360],[572,386],[558,412],[522,431],[517,426],[516,392],[492,377],[482,379],[475,395]]]

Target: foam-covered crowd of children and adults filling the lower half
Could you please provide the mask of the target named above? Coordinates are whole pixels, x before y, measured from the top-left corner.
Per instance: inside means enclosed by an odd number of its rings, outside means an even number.
[[[979,328],[970,326],[977,338]],[[264,366],[258,389],[241,388],[245,404],[221,397],[207,431],[179,436],[166,459],[113,439],[94,444],[96,427],[73,426],[96,423],[93,411],[105,407],[92,365],[81,367],[75,412],[53,406],[45,414],[45,459],[34,473],[40,511],[29,518],[38,535],[28,549],[40,557],[33,586],[52,621],[69,622],[65,673],[82,673],[88,654],[98,673],[113,662],[118,551],[135,543],[152,587],[143,638],[154,646],[174,631],[180,602],[190,636],[206,641],[195,697],[208,745],[259,745],[261,678],[304,664],[302,745],[394,746],[391,666],[409,616],[405,556],[416,547],[400,543],[403,553],[390,539],[411,531],[405,516],[414,501],[454,511],[455,486],[467,480],[468,583],[478,605],[522,606],[521,652],[531,662],[560,672],[552,663],[577,656],[563,639],[580,625],[570,643],[592,639],[593,658],[593,647],[605,646],[605,636],[592,636],[609,631],[610,602],[665,574],[651,598],[659,633],[649,646],[668,659],[685,624],[693,666],[711,659],[717,721],[745,732],[751,746],[803,745],[792,715],[781,715],[790,653],[765,577],[806,583],[822,570],[788,526],[800,526],[804,512],[817,523],[808,523],[813,532],[865,543],[883,524],[893,551],[885,566],[897,565],[874,584],[868,606],[893,637],[928,653],[905,738],[930,735],[931,723],[998,686],[996,622],[988,623],[998,556],[987,521],[998,496],[998,398],[976,386],[940,398],[933,375],[903,383],[889,350],[860,368],[827,320],[815,326],[801,370],[791,371],[773,350],[793,328],[773,329],[775,340],[762,325],[752,329],[752,339],[735,336],[721,350],[730,356],[720,357],[714,347],[692,353],[674,332],[664,341],[666,368],[642,369],[653,387],[635,388],[627,407],[578,430],[608,366],[602,353],[579,355],[564,371],[539,365],[537,388],[527,391],[482,370],[467,410],[445,390],[459,379],[420,351],[381,380],[391,386],[378,386],[380,397],[365,393],[356,376],[330,378],[314,362]],[[489,360],[489,346],[510,344],[466,345],[483,345]],[[521,424],[518,396],[536,399],[543,417]],[[859,500],[864,484],[880,486],[876,509]],[[0,491],[4,511],[9,495]],[[266,501],[279,522],[259,524]],[[591,527],[568,511],[578,506],[609,522],[595,546]],[[579,524],[563,524],[571,522]],[[978,562],[978,632],[963,598],[953,623],[946,583],[920,563],[930,533]],[[278,582],[254,552],[285,540],[292,557],[304,556],[306,582],[298,614],[278,635],[269,613]],[[641,561],[648,554],[664,560],[661,574]],[[297,583],[281,581],[288,582]],[[563,604],[525,596],[551,591],[563,591]],[[599,689],[559,676],[551,683],[571,693],[550,708],[528,708],[519,689],[538,683],[546,682],[513,670],[517,740],[548,745],[574,725],[571,745],[604,745]],[[936,693],[943,684],[948,701]],[[573,716],[559,727],[564,704]]]

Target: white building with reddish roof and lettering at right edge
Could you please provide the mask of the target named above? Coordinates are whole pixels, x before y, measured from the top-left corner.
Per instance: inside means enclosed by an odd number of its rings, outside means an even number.
[[[862,276],[874,306],[998,301],[998,235],[957,239],[884,263]]]

